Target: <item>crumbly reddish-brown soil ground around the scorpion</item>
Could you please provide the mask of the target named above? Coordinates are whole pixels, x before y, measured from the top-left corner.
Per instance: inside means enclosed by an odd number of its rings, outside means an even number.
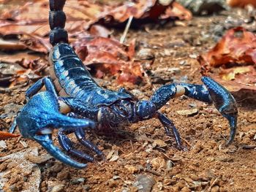
[[[148,99],[154,89],[164,83],[201,84],[196,56],[215,45],[211,26],[224,21],[227,15],[228,12],[219,16],[195,17],[189,22],[177,22],[176,26],[168,24],[159,28],[146,26],[143,30],[129,30],[127,42],[135,38],[140,47],[150,49],[148,54],[153,55],[155,61],[151,66],[146,61],[144,64],[148,74],[146,81],[152,83],[125,85],[127,90],[139,99]],[[111,77],[105,77],[99,83],[113,90],[121,87]],[[16,104],[12,109],[18,111],[18,107],[25,103],[24,91],[28,86],[0,94],[1,114],[8,104]],[[89,133],[88,139],[99,146],[106,158],[105,161],[96,158],[95,163],[80,170],[50,158],[37,142],[8,139],[5,141],[7,146],[0,147],[0,158],[26,152],[29,147],[36,147],[38,156],[29,158],[26,155],[24,158],[24,161],[34,164],[31,171],[26,166],[17,168],[20,166],[14,166],[11,158],[1,160],[0,172],[9,175],[5,176],[7,182],[3,189],[26,190],[34,180],[31,177],[35,173],[33,170],[39,170],[39,191],[256,191],[255,106],[241,101],[238,101],[238,106],[238,132],[229,147],[225,147],[225,139],[229,137],[227,120],[214,106],[181,97],[170,100],[161,111],[173,120],[187,150],[178,150],[173,137],[165,135],[159,120],[151,119],[120,127],[106,135]],[[192,114],[180,115],[184,110],[192,110]],[[0,130],[7,131],[12,120],[12,116],[2,118]],[[86,151],[75,136],[69,137],[75,142],[75,147]],[[53,140],[58,145],[56,134]]]

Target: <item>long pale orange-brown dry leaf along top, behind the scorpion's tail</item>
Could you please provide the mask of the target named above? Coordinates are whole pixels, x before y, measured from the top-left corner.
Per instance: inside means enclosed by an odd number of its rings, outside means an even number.
[[[116,4],[104,4],[99,1],[67,1],[64,12],[67,15],[66,29],[69,34],[84,31],[95,23],[123,23],[129,16],[136,19],[161,19],[166,18],[189,19],[187,9],[180,9],[177,3],[174,9],[165,14],[165,10],[172,9],[173,1],[169,4],[159,4],[157,0],[124,1]],[[48,0],[30,0],[26,4],[17,7],[15,1],[4,1],[0,12],[0,34],[30,34],[45,37],[50,31],[48,26]],[[184,11],[184,13],[182,13]],[[38,14],[40,12],[40,14]]]

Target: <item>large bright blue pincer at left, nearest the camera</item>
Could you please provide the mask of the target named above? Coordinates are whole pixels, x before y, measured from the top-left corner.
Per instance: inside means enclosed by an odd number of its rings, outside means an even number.
[[[20,134],[24,138],[34,139],[54,158],[64,164],[81,169],[86,164],[80,164],[72,160],[59,147],[53,145],[51,139],[53,128],[62,128],[70,131],[79,128],[95,128],[95,123],[92,120],[70,118],[61,114],[69,112],[67,105],[64,104],[61,97],[57,96],[51,80],[48,78],[44,80],[46,91],[37,93],[34,96],[26,92],[27,104],[20,110],[9,131],[12,133],[18,126]],[[87,161],[94,160],[85,153],[83,153],[83,158]]]

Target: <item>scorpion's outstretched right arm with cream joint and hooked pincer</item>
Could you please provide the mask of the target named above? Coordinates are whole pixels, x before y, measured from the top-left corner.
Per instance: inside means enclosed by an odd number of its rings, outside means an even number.
[[[204,85],[194,85],[188,83],[172,83],[169,85],[163,85],[159,88],[150,101],[156,106],[156,110],[159,110],[163,105],[172,98],[186,95],[192,99],[204,101],[208,103],[214,103],[214,106],[219,110],[223,117],[227,118],[230,124],[230,139],[227,141],[227,145],[233,142],[236,135],[236,123],[237,123],[237,107],[236,100],[231,93],[227,91],[222,85],[219,85],[216,81],[210,77],[202,77]],[[174,131],[173,131],[174,132]],[[178,135],[176,135],[178,137]],[[177,144],[178,141],[176,140]]]

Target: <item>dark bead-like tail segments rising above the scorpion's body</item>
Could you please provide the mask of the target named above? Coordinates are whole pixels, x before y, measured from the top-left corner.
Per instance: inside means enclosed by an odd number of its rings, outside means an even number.
[[[50,44],[56,45],[60,42],[68,43],[67,31],[64,29],[66,15],[63,7],[66,0],[50,0]]]

